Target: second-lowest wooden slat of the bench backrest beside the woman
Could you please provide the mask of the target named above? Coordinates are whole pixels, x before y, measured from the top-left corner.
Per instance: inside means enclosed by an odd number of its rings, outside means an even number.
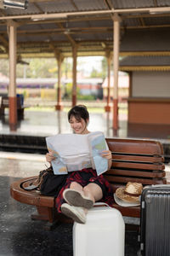
[[[131,171],[122,169],[112,169],[106,172],[106,175],[121,175],[121,176],[136,176],[136,177],[165,177],[166,172],[141,172],[141,171]]]

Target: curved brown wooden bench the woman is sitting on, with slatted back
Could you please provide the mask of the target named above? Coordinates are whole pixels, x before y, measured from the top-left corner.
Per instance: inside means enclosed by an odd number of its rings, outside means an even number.
[[[128,181],[145,185],[167,183],[164,171],[164,157],[161,143],[141,139],[106,139],[112,152],[111,170],[105,172],[105,178],[112,184],[114,191],[124,186]],[[27,186],[36,177],[27,177],[11,184],[11,196],[22,203],[37,207],[37,214],[31,218],[45,219],[51,224],[56,218],[60,218],[54,209],[54,197],[40,195],[37,191],[26,191]],[[140,217],[140,207],[115,207],[123,216]]]

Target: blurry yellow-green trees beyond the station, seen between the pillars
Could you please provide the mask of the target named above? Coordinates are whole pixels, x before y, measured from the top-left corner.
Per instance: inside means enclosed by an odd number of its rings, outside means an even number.
[[[58,65],[55,58],[32,58],[24,59],[29,65],[20,64],[16,65],[16,77],[17,78],[57,78],[58,76]],[[83,58],[78,58],[77,61],[77,71],[81,71],[82,76],[85,76],[85,71],[83,69],[86,62]],[[88,65],[88,64],[87,64]],[[104,79],[107,72],[107,61],[103,57],[101,61],[102,68],[99,70],[94,66],[88,77],[91,78],[102,78]],[[79,69],[78,69],[79,68]],[[65,58],[61,65],[62,77],[65,79],[71,79],[72,77],[72,60],[71,58]],[[9,76],[9,63],[8,59],[0,60],[0,73],[5,76]]]

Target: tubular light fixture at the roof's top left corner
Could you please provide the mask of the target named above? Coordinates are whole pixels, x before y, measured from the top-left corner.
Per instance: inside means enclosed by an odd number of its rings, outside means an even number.
[[[0,0],[0,8],[16,8],[16,9],[27,9],[28,0],[23,2],[20,1],[12,1],[12,0]]]

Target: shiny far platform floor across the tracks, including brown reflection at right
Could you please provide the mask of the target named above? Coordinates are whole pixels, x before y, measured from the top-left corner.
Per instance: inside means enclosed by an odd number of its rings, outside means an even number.
[[[67,121],[67,111],[30,111],[25,110],[25,118],[18,122],[17,134],[33,136],[48,136],[57,133],[71,132]],[[100,113],[90,113],[89,131],[103,131],[105,137],[140,137],[154,138],[170,143],[170,125],[128,125],[127,111],[122,108],[119,113],[119,129],[115,134],[112,129],[112,113],[105,113],[100,108]],[[8,110],[8,109],[7,109]],[[0,119],[0,133],[10,133],[8,127],[8,114]]]

